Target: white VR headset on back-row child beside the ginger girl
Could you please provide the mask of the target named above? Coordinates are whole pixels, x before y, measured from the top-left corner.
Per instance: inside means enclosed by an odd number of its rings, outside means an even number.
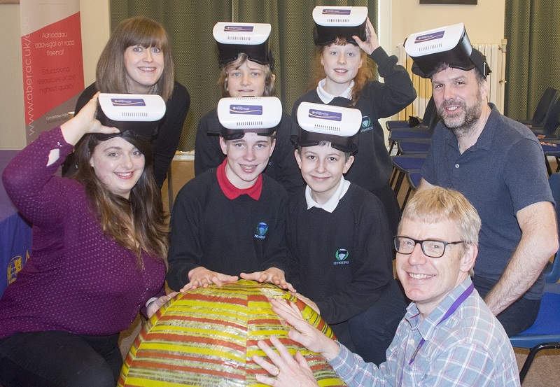
[[[270,24],[218,22],[212,34],[218,44],[220,65],[235,61],[241,52],[258,64],[274,68],[274,59],[269,48]]]

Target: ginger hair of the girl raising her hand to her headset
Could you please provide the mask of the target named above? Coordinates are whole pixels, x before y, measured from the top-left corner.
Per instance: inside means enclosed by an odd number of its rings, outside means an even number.
[[[338,36],[337,40],[332,43],[334,45],[346,45],[349,43],[344,36]],[[327,75],[325,74],[325,67],[321,64],[321,57],[323,57],[323,52],[325,48],[330,47],[330,45],[318,45],[315,47],[315,55],[313,59],[313,74],[311,76],[311,82],[309,83],[308,90],[313,90],[317,87],[319,81],[323,80]],[[360,97],[360,92],[367,82],[374,79],[374,67],[375,62],[371,59],[364,50],[360,49],[360,59],[362,59],[362,66],[358,69],[356,77],[354,80],[354,86],[352,87],[351,100],[352,106],[356,106],[358,98]]]

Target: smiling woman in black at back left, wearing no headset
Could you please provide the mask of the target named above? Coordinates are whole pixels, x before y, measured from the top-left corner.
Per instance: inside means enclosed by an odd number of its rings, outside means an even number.
[[[152,139],[154,177],[161,188],[190,107],[190,94],[174,80],[169,36],[162,24],[144,16],[118,24],[97,62],[95,83],[86,87],[76,103],[76,113],[99,91],[104,93],[158,94],[167,104],[165,118]],[[64,176],[76,171],[72,155],[64,163]]]

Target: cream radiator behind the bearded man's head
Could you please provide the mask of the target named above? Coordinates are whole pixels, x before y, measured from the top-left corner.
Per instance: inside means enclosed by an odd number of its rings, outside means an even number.
[[[488,62],[492,72],[487,77],[488,80],[488,101],[496,105],[498,110],[503,113],[504,93],[505,93],[505,50],[507,40],[502,39],[500,44],[490,43],[474,43],[472,46],[486,55],[486,62]],[[397,46],[398,63],[405,66],[412,83],[416,89],[418,97],[405,108],[405,110],[398,113],[396,120],[407,120],[409,115],[417,115],[422,118],[426,110],[426,104],[432,96],[432,82],[429,79],[416,76],[410,70],[412,68],[412,59],[405,52],[404,45]]]

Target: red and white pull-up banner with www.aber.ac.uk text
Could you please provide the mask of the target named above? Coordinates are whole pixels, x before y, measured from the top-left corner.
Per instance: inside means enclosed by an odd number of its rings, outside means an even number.
[[[83,90],[79,0],[20,0],[25,132],[68,120]]]

